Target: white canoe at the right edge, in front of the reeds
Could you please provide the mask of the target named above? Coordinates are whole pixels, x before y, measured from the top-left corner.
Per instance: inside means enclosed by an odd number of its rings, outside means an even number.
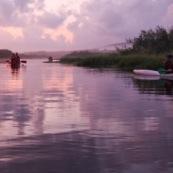
[[[135,75],[141,75],[141,76],[159,76],[160,78],[173,79],[173,73],[160,74],[156,70],[135,69],[135,70],[133,70],[133,73]]]

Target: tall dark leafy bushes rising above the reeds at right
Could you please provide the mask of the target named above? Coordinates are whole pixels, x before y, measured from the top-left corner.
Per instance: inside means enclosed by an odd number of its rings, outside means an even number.
[[[138,37],[128,39],[131,48],[119,50],[121,53],[169,53],[173,52],[173,28],[166,30],[161,26],[141,30]]]

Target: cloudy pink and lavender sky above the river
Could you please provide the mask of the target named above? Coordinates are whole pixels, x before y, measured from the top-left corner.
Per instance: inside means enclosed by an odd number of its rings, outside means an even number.
[[[0,0],[0,49],[103,49],[173,26],[173,0]]]

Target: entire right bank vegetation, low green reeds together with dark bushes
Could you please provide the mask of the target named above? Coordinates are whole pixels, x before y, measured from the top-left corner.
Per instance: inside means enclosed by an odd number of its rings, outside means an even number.
[[[123,70],[153,69],[162,66],[166,54],[173,52],[173,28],[162,27],[141,31],[137,38],[127,40],[130,48],[117,49],[113,53],[72,52],[60,59],[60,63],[92,68],[113,68]]]

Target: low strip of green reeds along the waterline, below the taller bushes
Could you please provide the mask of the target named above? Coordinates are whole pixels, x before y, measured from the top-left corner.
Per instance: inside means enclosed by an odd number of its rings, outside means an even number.
[[[152,69],[157,70],[162,66],[165,54],[128,54],[118,53],[90,53],[73,52],[65,55],[59,61],[63,64],[71,64],[90,68],[120,68],[122,70]]]

